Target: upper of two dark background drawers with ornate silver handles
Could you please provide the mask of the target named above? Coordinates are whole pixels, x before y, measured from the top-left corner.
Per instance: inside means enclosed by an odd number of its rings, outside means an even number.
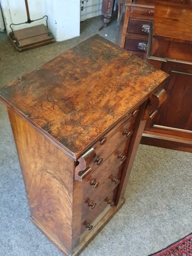
[[[129,19],[129,24],[127,28],[128,33],[149,35],[150,21]]]

